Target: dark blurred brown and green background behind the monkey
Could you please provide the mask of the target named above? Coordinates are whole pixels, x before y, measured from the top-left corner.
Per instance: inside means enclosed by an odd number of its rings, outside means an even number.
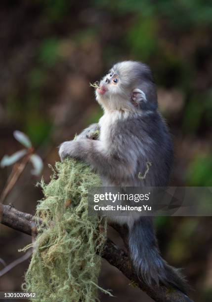
[[[210,0],[1,0],[0,158],[20,149],[12,133],[21,130],[41,155],[48,182],[48,163],[59,160],[57,146],[102,114],[89,82],[126,59],[149,64],[155,76],[174,142],[171,185],[212,186]],[[30,169],[5,203],[34,214],[41,178]],[[0,190],[10,170],[0,169]],[[158,217],[155,225],[164,258],[184,267],[191,297],[212,301],[212,219]],[[30,241],[0,226],[0,258],[11,263]],[[20,291],[27,266],[28,261],[2,276],[0,291]],[[116,296],[101,294],[102,302],[152,301],[105,261],[100,285]]]

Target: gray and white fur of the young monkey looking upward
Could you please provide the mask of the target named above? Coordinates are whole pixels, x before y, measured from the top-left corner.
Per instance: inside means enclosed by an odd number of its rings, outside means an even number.
[[[118,83],[113,82],[114,78],[118,78]],[[106,91],[96,90],[104,115],[76,141],[60,146],[61,160],[66,156],[85,160],[101,175],[104,186],[167,186],[172,146],[167,126],[157,111],[156,88],[149,67],[133,61],[115,64],[101,80],[100,89]],[[88,139],[90,131],[97,128],[99,140]],[[152,165],[141,180],[138,175],[145,172],[147,162]],[[129,249],[138,276],[149,285],[170,283],[186,291],[179,272],[160,256],[151,218],[129,216],[111,220],[129,228]]]

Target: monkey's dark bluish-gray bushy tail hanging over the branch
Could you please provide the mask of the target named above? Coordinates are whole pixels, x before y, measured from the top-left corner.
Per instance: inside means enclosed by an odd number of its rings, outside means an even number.
[[[173,286],[186,294],[188,285],[180,270],[170,266],[160,255],[150,217],[141,217],[129,228],[130,256],[137,275],[147,285]]]

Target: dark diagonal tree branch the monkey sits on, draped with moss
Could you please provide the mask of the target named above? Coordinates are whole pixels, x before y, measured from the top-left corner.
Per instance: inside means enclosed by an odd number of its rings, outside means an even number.
[[[0,222],[7,227],[12,227],[28,235],[32,235],[32,232],[37,232],[33,215],[20,212],[10,205],[0,204]],[[119,231],[123,238],[126,237],[123,229],[118,226],[113,227]],[[110,239],[107,239],[101,257],[117,267],[131,281],[133,286],[139,287],[156,302],[192,302],[180,291],[168,289],[164,285],[149,288],[142,280],[138,279],[127,253],[116,246]]]

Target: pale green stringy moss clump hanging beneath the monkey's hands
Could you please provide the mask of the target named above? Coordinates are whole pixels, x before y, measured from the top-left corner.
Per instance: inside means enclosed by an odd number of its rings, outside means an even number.
[[[97,300],[101,260],[96,252],[104,247],[106,222],[100,231],[100,219],[88,216],[87,193],[100,184],[99,176],[75,159],[57,162],[50,183],[42,181],[45,197],[36,218],[43,223],[23,284],[36,293],[33,301]]]

